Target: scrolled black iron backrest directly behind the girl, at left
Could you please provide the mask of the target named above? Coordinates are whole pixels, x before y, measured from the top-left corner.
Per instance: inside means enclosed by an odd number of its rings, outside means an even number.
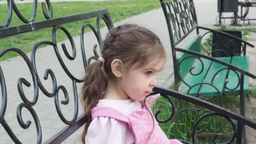
[[[3,48],[3,50],[0,52],[0,58],[3,58],[3,56],[8,55],[10,52],[12,53],[16,53],[16,55],[21,56],[22,58],[19,61],[22,61],[23,63],[27,64],[27,67],[25,65],[25,69],[27,69],[27,73],[31,73],[30,77],[27,78],[19,78],[15,79],[14,81],[9,81],[8,77],[6,78],[5,75],[6,73],[9,72],[8,67],[4,67],[3,68],[3,62],[1,62],[2,68],[0,70],[0,82],[1,82],[1,88],[2,88],[2,104],[1,104],[1,111],[0,111],[0,123],[3,126],[3,128],[0,128],[1,131],[6,131],[8,133],[8,135],[11,137],[11,139],[15,142],[15,143],[21,143],[20,139],[17,138],[16,136],[16,131],[13,129],[13,127],[10,127],[10,120],[8,119],[8,115],[11,115],[7,112],[6,114],[6,108],[8,106],[10,106],[10,104],[8,104],[7,106],[7,99],[9,100],[8,103],[11,101],[13,101],[13,94],[9,93],[9,95],[7,94],[7,89],[9,90],[10,87],[13,88],[13,91],[17,91],[17,88],[19,90],[19,95],[15,95],[17,98],[19,99],[21,98],[21,103],[13,106],[13,107],[17,107],[17,119],[18,122],[20,123],[22,128],[29,128],[29,123],[27,123],[25,125],[26,122],[24,122],[22,120],[21,117],[27,117],[27,115],[22,115],[23,111],[24,111],[24,107],[26,107],[26,109],[29,110],[29,112],[31,113],[32,117],[34,118],[34,124],[36,125],[36,133],[34,137],[37,137],[37,143],[40,144],[42,143],[42,137],[45,136],[46,132],[44,132],[42,134],[42,128],[41,128],[41,119],[39,119],[39,115],[38,113],[40,113],[40,110],[36,110],[38,103],[43,104],[44,100],[42,101],[42,99],[44,99],[44,97],[49,97],[46,101],[48,101],[47,106],[52,106],[51,110],[48,109],[49,113],[52,114],[48,114],[48,117],[53,117],[53,115],[59,115],[59,117],[57,118],[57,120],[62,121],[62,123],[64,125],[67,125],[66,128],[62,129],[61,131],[59,131],[58,133],[56,133],[55,136],[53,136],[51,139],[49,139],[48,141],[46,141],[46,143],[61,143],[62,141],[64,141],[65,139],[67,139],[67,137],[69,137],[72,133],[74,133],[75,131],[77,131],[77,129],[79,129],[83,124],[85,124],[86,119],[85,117],[82,115],[78,115],[78,110],[80,108],[78,108],[78,104],[80,103],[80,101],[78,100],[78,94],[77,91],[80,92],[80,88],[77,88],[77,85],[79,83],[83,83],[83,78],[78,78],[77,76],[75,76],[72,73],[72,70],[74,69],[69,69],[66,65],[66,63],[64,62],[65,59],[68,59],[70,61],[74,60],[77,56],[77,49],[75,46],[79,46],[76,45],[74,42],[74,39],[72,37],[72,35],[69,32],[69,27],[66,27],[67,23],[74,23],[77,21],[83,21],[81,24],[81,31],[80,31],[80,44],[81,44],[81,54],[82,56],[80,56],[80,58],[82,57],[83,59],[79,60],[79,61],[83,61],[83,65],[80,65],[78,67],[83,67],[82,69],[85,69],[85,67],[88,66],[88,64],[90,63],[90,61],[92,59],[98,59],[98,54],[97,54],[97,50],[96,50],[96,46],[94,46],[94,48],[91,48],[91,51],[94,52],[94,56],[90,56],[88,57],[88,53],[87,51],[85,52],[85,43],[86,43],[86,39],[90,38],[90,37],[85,37],[84,38],[84,33],[85,33],[85,29],[91,29],[92,32],[95,35],[95,39],[97,39],[98,43],[99,43],[99,48],[102,47],[102,39],[101,39],[101,32],[100,32],[100,22],[101,25],[106,25],[108,29],[111,29],[113,27],[112,21],[109,17],[108,11],[107,9],[101,9],[101,10],[97,10],[97,11],[89,11],[89,12],[85,12],[85,13],[79,13],[79,14],[74,14],[71,16],[63,16],[63,17],[59,17],[59,18],[54,18],[53,19],[53,9],[51,7],[51,3],[49,1],[47,1],[47,5],[48,5],[48,9],[49,9],[49,15],[46,12],[46,6],[45,3],[43,2],[43,11],[45,19],[43,21],[38,21],[35,22],[35,17],[36,17],[36,10],[37,10],[37,3],[33,4],[33,8],[34,11],[32,12],[32,17],[30,20],[27,20],[26,18],[24,18],[24,16],[21,14],[21,11],[19,11],[19,9],[16,7],[15,3],[12,3],[11,0],[8,0],[8,16],[7,16],[7,20],[3,25],[0,25],[0,43],[1,46],[3,44],[3,40],[5,40],[8,37],[14,37],[16,39],[18,39],[18,35],[22,35],[21,38],[25,37],[24,33],[37,33],[37,31],[41,31],[43,29],[53,29],[52,30],[52,40],[51,41],[47,41],[47,40],[42,40],[39,42],[35,42],[35,46],[32,49],[32,53],[31,53],[31,59],[29,59],[29,57],[26,55],[26,53],[24,51],[21,51],[19,48],[14,48],[14,47],[8,47],[8,48]],[[13,17],[13,13],[12,10],[14,10],[17,14],[17,16],[19,17],[19,19],[24,23],[22,25],[19,26],[14,26],[14,27],[8,27],[11,23],[11,18]],[[96,28],[93,26],[94,24],[88,24],[86,22],[87,19],[94,19],[95,23],[96,23]],[[102,22],[102,20],[104,22]],[[65,45],[62,44],[61,47],[63,49],[64,55],[63,56],[60,54],[61,48],[58,48],[57,45],[57,38],[56,37],[56,33],[62,31],[64,32],[64,34],[67,35],[67,39],[69,39],[69,42],[71,44],[71,46],[69,45]],[[51,37],[51,35],[49,35],[49,37]],[[40,66],[37,65],[37,55],[36,53],[38,52],[38,48],[40,46],[50,46],[51,49],[55,51],[56,56],[55,56],[55,60],[52,60],[50,63],[57,63],[58,66],[61,65],[62,67],[62,72],[64,71],[64,73],[66,73],[65,76],[67,76],[67,81],[66,83],[71,83],[72,86],[70,85],[69,87],[65,87],[64,85],[60,84],[60,79],[57,79],[56,77],[59,77],[58,75],[56,75],[56,71],[47,68],[47,69],[43,69],[43,71],[45,71],[45,76],[42,77],[42,75],[38,74],[38,69],[42,69]],[[26,44],[24,44],[24,47],[26,47]],[[45,49],[45,48],[44,48]],[[87,48],[87,50],[90,48]],[[70,50],[72,51],[71,54]],[[101,49],[100,49],[101,50]],[[47,59],[48,53],[45,53],[45,60]],[[86,56],[87,57],[86,57]],[[44,57],[43,57],[44,58]],[[43,62],[43,65],[48,65],[49,62]],[[9,67],[12,67],[11,65]],[[17,67],[17,69],[15,70],[16,72],[19,72],[19,65],[15,66]],[[48,66],[46,66],[48,67]],[[14,67],[13,67],[14,68]],[[21,69],[21,68],[20,68]],[[61,69],[61,68],[59,68]],[[14,70],[14,69],[13,69]],[[11,70],[10,70],[11,71]],[[81,73],[84,73],[84,71],[82,71]],[[48,76],[51,76],[48,77]],[[61,76],[62,77],[62,76]],[[29,80],[29,78],[31,80]],[[44,78],[44,80],[43,80]],[[48,83],[48,85],[44,85],[44,81],[47,79],[50,79],[50,83]],[[5,81],[7,79],[7,81]],[[48,80],[49,80],[48,79]],[[18,86],[15,88],[14,85],[17,85],[17,80],[18,80]],[[51,83],[52,81],[52,83]],[[11,85],[10,85],[11,83]],[[32,88],[34,87],[34,91],[32,91],[31,93],[27,93],[24,92],[26,90],[27,87],[30,86],[30,84],[33,83]],[[48,86],[52,85],[52,88],[50,86],[50,89],[48,89]],[[40,88],[40,90],[39,90]],[[59,99],[63,99],[62,98],[58,98],[60,96],[58,96],[59,91],[62,91],[64,93],[65,96],[65,100],[61,101],[61,104],[59,104]],[[73,95],[70,97],[68,96],[68,91],[73,91]],[[32,95],[32,99],[31,97],[29,97],[30,95]],[[40,95],[40,96],[39,96]],[[39,98],[40,97],[40,98]],[[53,98],[54,97],[54,98]],[[74,103],[72,101],[72,103],[74,104],[74,107],[69,109],[69,113],[71,115],[73,115],[73,117],[71,119],[67,118],[67,116],[64,114],[64,111],[62,111],[61,109],[63,109],[64,105],[70,105],[71,102],[69,102],[69,99],[74,99]],[[38,99],[40,99],[41,101],[39,101]],[[53,101],[54,99],[54,101]],[[37,101],[38,100],[38,101]],[[18,101],[18,100],[17,100]],[[54,103],[55,103],[55,107],[54,107]],[[71,103],[71,105],[72,105]],[[10,107],[9,107],[10,108]],[[45,107],[46,109],[49,107]],[[21,110],[23,109],[23,110]],[[72,110],[71,110],[72,109]],[[22,111],[22,112],[21,112]],[[54,112],[56,112],[56,114],[54,114]],[[80,109],[81,111],[81,109]],[[47,112],[47,111],[45,111]],[[15,114],[14,114],[15,116]],[[16,119],[16,120],[17,120]],[[15,120],[15,118],[14,118]],[[17,121],[16,121],[17,123]],[[32,122],[33,123],[33,122]],[[54,123],[54,121],[52,122]],[[18,123],[17,123],[18,124]],[[62,127],[63,128],[63,127]],[[30,127],[31,129],[31,127]],[[32,128],[33,129],[33,128]],[[44,131],[44,130],[43,130]],[[28,136],[28,135],[27,135]],[[43,140],[43,142],[45,142],[45,140]]]

